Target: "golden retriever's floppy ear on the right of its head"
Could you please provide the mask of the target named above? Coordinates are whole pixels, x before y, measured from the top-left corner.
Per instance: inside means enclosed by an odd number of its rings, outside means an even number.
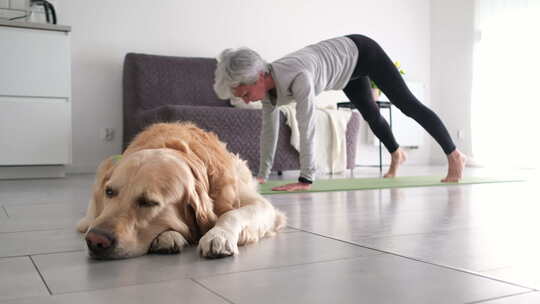
[[[217,216],[214,213],[214,202],[208,195],[210,191],[208,175],[204,164],[200,160],[189,156],[185,157],[185,160],[191,169],[193,182],[186,183],[184,200],[194,214],[200,235],[203,235],[214,227],[217,221]],[[185,206],[184,208],[188,207]]]

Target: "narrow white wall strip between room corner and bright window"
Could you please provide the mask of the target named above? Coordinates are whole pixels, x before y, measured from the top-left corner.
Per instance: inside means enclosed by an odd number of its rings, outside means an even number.
[[[431,2],[431,99],[458,148],[472,155],[471,87],[474,44],[474,1]],[[461,131],[462,137],[458,137]],[[432,163],[446,163],[432,145]]]

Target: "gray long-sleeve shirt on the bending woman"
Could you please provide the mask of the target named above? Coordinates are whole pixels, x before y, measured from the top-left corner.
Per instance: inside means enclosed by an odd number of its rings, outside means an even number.
[[[279,134],[278,107],[296,101],[300,132],[300,176],[315,176],[315,96],[326,90],[341,90],[349,82],[358,48],[347,37],[309,45],[270,64],[276,97],[266,96],[263,104],[261,159],[258,177],[268,178]]]

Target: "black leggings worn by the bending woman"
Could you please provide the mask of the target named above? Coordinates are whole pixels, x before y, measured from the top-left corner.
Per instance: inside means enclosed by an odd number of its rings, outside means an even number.
[[[414,97],[394,63],[379,44],[362,35],[347,37],[351,38],[358,47],[358,63],[351,80],[343,91],[386,149],[392,153],[399,148],[399,145],[373,100],[370,79],[403,114],[416,120],[439,143],[444,153],[447,155],[452,153],[456,146],[443,122],[437,114]]]

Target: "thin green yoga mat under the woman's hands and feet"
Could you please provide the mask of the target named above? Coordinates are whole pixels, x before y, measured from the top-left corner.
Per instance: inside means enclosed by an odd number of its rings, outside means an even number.
[[[271,180],[260,185],[261,194],[284,194],[299,192],[352,191],[367,189],[453,186],[466,184],[504,183],[524,181],[521,178],[464,177],[458,183],[441,183],[440,176],[406,176],[396,178],[344,178],[317,180],[307,191],[272,191],[273,187],[294,183],[292,180]]]

